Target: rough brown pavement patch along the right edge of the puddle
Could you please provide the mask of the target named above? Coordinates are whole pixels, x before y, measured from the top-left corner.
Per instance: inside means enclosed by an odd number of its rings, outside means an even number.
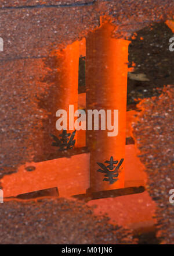
[[[174,204],[169,191],[174,180],[174,86],[165,87],[160,97],[144,99],[133,135],[140,159],[148,174],[147,190],[157,203],[157,219],[162,243],[174,244]]]

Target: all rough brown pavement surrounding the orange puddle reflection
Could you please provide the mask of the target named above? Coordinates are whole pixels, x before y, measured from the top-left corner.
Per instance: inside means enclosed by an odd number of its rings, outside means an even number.
[[[45,88],[53,90],[57,86],[56,60],[49,58],[49,52],[84,37],[99,26],[100,15],[111,16],[117,26],[116,37],[130,36],[151,22],[172,17],[174,6],[171,0],[79,0],[56,4],[57,1],[1,1],[4,51],[0,58],[0,175],[15,171],[19,163],[42,152],[43,145],[38,141],[46,111],[39,100],[42,96],[44,101]],[[172,89],[168,91],[173,94]],[[173,179],[172,102],[167,92],[160,100],[147,100],[143,103],[147,107],[142,120],[135,126],[141,159],[149,174],[148,190],[159,205],[157,216],[165,243],[173,243],[173,206],[168,202]],[[0,212],[0,243],[125,242],[126,232],[115,232],[106,219],[99,221],[89,208],[67,199],[5,202],[0,204]],[[128,239],[126,243],[134,241]]]

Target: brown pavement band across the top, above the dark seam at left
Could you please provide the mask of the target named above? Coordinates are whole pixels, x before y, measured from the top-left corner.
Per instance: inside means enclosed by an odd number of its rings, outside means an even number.
[[[48,56],[98,27],[100,16],[111,17],[117,26],[114,36],[130,36],[151,22],[169,19],[173,8],[173,0],[1,1],[5,51],[0,59]]]

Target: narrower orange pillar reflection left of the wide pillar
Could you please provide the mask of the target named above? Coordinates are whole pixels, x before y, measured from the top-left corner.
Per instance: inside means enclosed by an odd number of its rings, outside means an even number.
[[[55,54],[55,53],[53,53]],[[52,104],[51,120],[53,135],[59,136],[56,122],[61,117],[56,117],[57,110],[66,110],[67,112],[67,132],[74,131],[74,112],[78,109],[78,65],[79,65],[79,42],[75,41],[61,51],[56,52],[57,57],[57,90],[54,94],[54,104]],[[70,115],[69,107],[73,111]],[[73,105],[73,107],[72,107]],[[70,118],[70,119],[69,119]],[[62,125],[62,124],[61,124]],[[75,135],[77,141],[77,134]],[[76,146],[76,143],[75,143]]]

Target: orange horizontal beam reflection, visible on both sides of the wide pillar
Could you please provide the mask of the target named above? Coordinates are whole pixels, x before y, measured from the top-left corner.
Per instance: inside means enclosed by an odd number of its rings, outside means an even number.
[[[126,145],[125,185],[139,187],[146,184],[147,175],[144,166],[136,156],[135,145]],[[60,197],[85,194],[89,188],[90,153],[62,157],[39,163],[26,163],[17,173],[2,178],[4,197],[16,197],[19,194],[58,187]],[[26,169],[33,169],[27,171]]]

